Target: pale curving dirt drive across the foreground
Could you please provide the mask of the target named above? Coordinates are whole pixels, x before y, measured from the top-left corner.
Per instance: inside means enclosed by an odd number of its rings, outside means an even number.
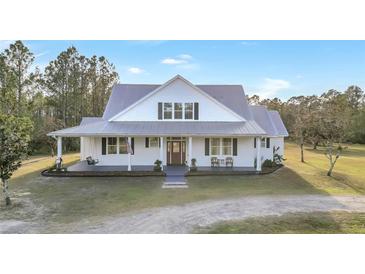
[[[114,217],[77,233],[189,233],[225,220],[312,211],[365,212],[365,196],[255,196],[210,200]],[[76,232],[76,231],[75,231]]]

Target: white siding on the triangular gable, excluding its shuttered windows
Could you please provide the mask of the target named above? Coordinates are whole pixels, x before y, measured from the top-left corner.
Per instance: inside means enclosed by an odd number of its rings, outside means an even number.
[[[199,103],[199,121],[240,121],[231,111],[177,79],[115,121],[158,121],[158,102]],[[168,120],[166,120],[168,121]],[[171,120],[170,120],[171,121]],[[175,120],[194,121],[194,120]]]

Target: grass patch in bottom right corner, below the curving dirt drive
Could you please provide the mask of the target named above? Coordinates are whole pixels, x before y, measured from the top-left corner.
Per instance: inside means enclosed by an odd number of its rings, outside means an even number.
[[[195,232],[209,234],[365,233],[365,213],[288,213],[282,216],[223,222],[197,229]]]

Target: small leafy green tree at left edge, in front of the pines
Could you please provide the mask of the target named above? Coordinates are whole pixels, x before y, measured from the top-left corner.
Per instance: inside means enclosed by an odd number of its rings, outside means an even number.
[[[11,204],[8,180],[29,152],[31,131],[32,122],[29,118],[0,114],[0,179],[6,205]]]

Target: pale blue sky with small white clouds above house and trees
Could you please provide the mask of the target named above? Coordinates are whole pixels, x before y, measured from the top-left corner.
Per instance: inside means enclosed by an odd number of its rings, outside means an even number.
[[[3,50],[11,41],[0,41]],[[43,69],[69,46],[105,56],[121,83],[241,84],[246,94],[286,100],[350,85],[365,89],[365,41],[24,41]]]

